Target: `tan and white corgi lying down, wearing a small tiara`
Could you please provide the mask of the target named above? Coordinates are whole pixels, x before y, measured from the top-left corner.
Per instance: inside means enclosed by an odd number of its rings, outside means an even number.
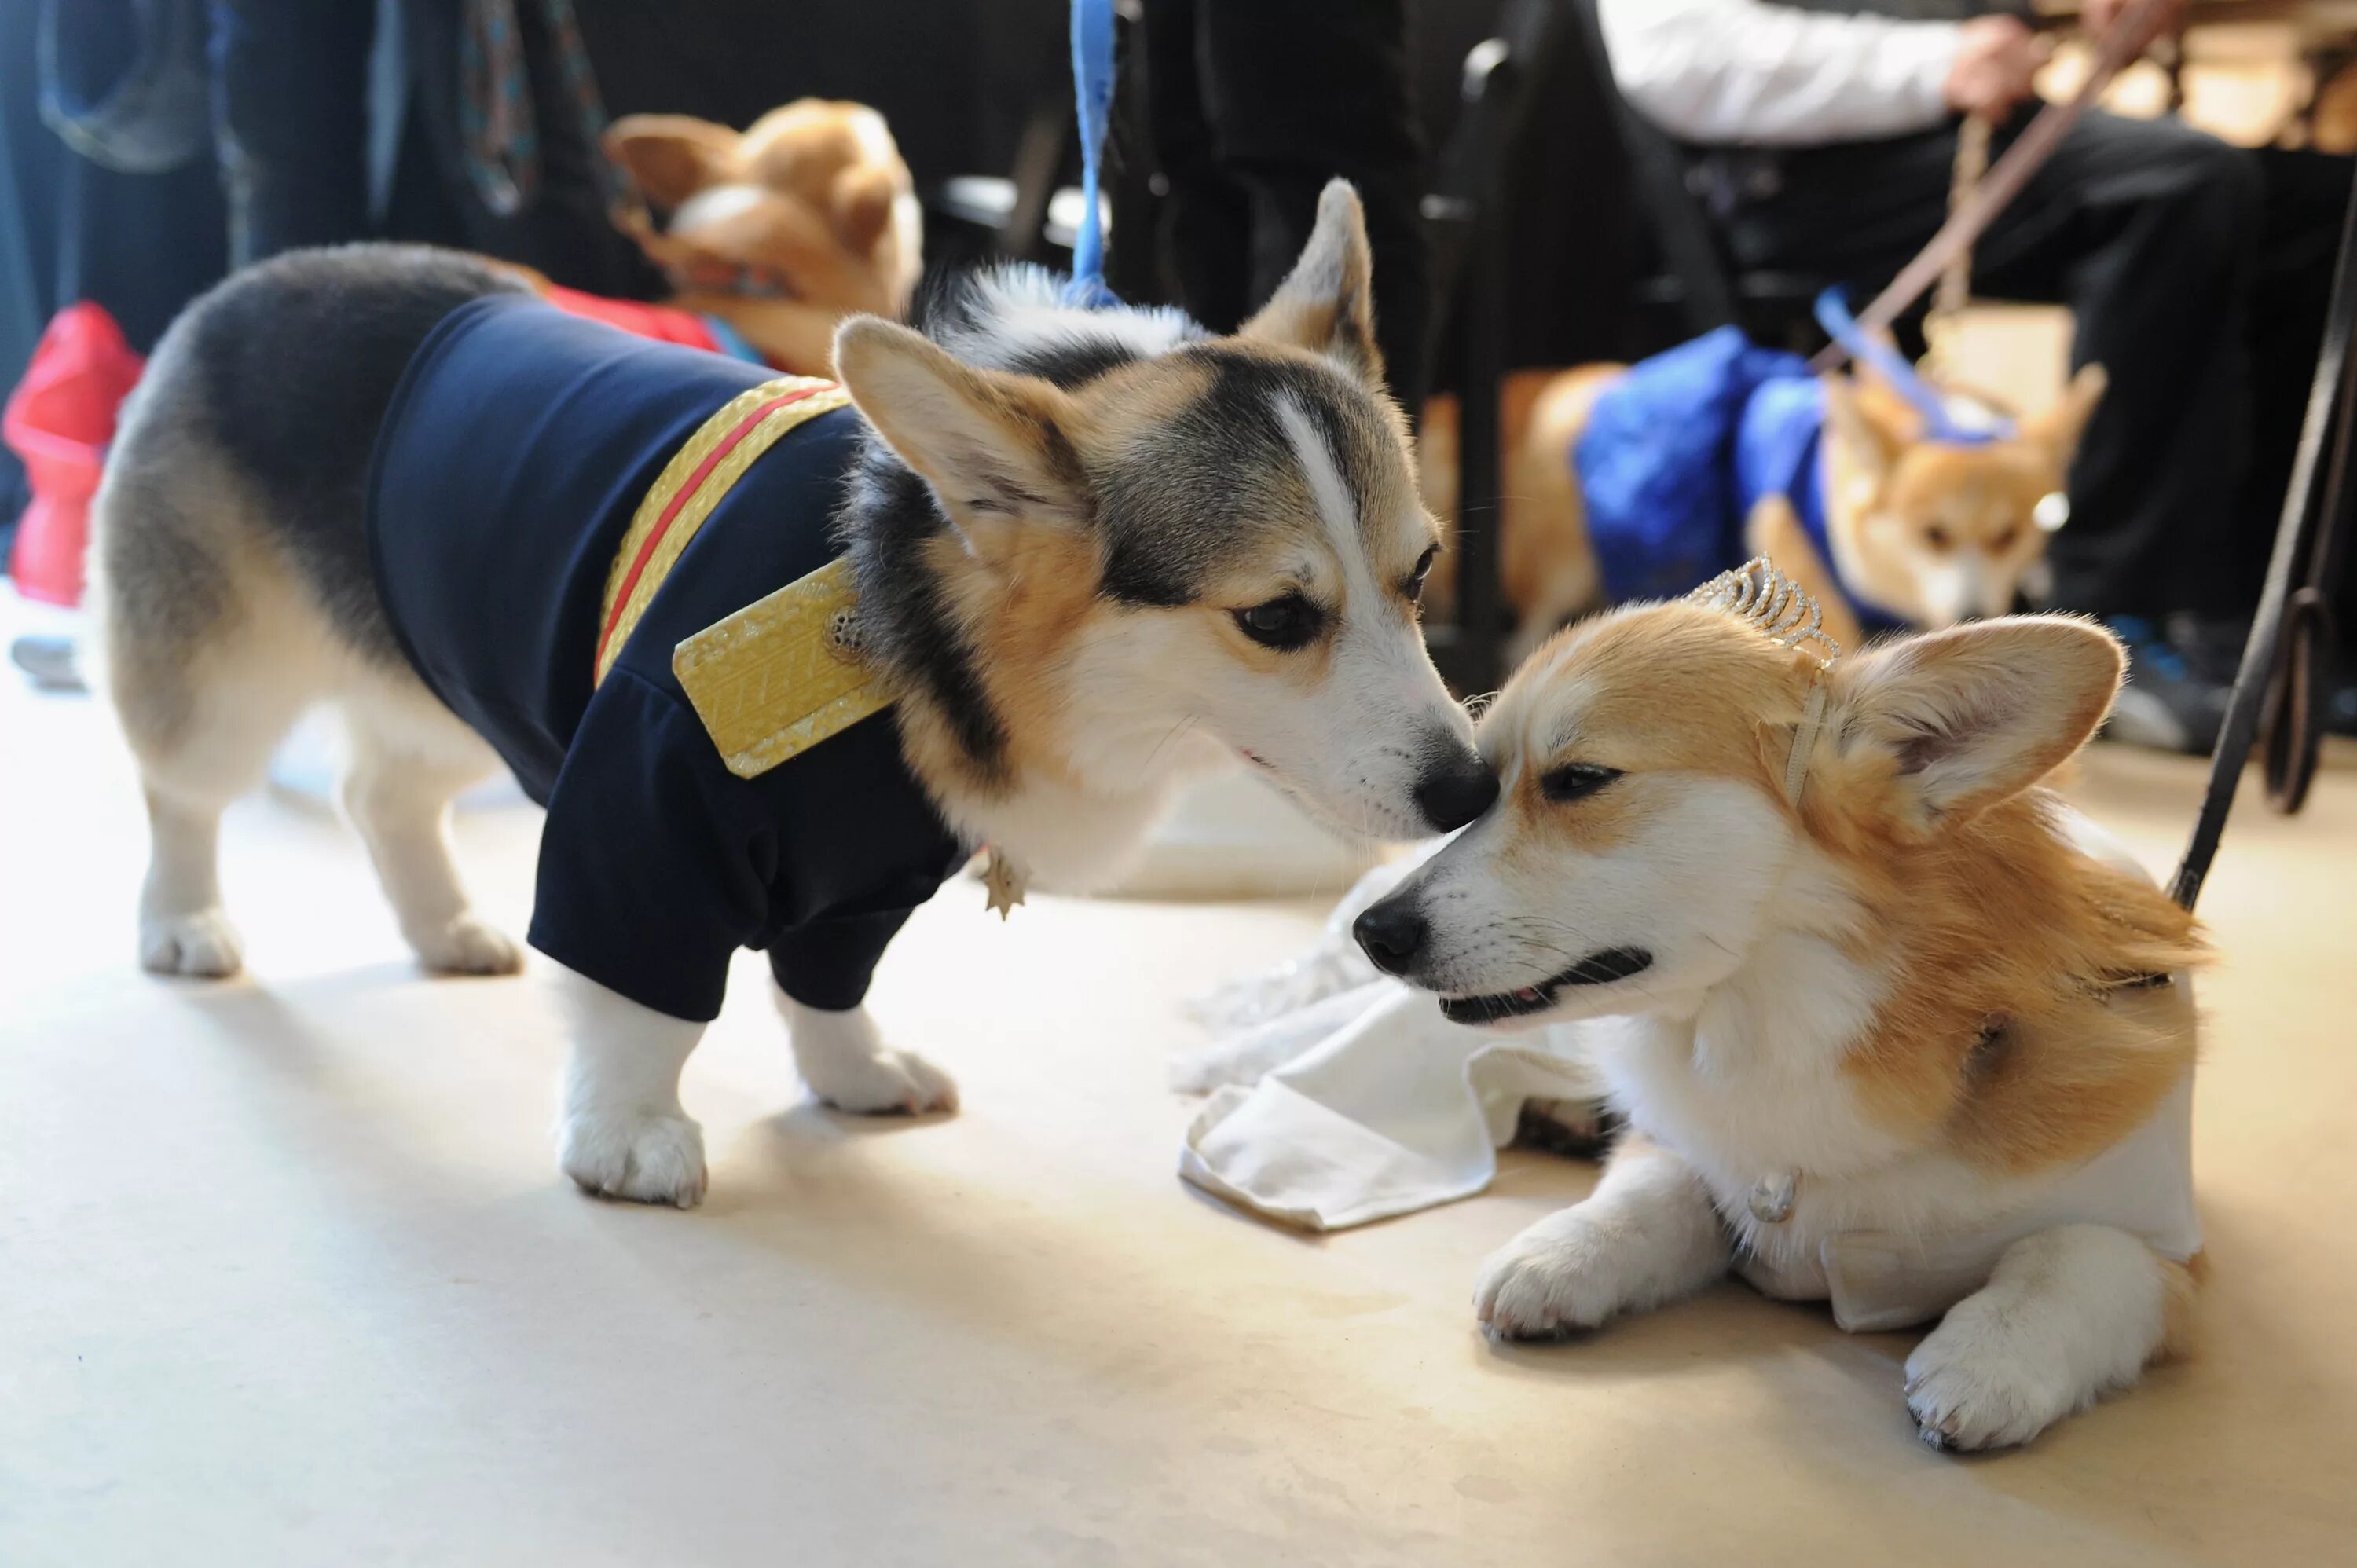
[[[1563,632],[1483,717],[1499,804],[1355,936],[1457,1021],[1603,1021],[1629,1129],[1483,1266],[1490,1332],[1735,1269],[1848,1330],[1937,1318],[1923,1438],[2022,1443],[2185,1332],[2201,941],[2039,783],[2112,703],[2107,632],[1831,658],[1798,604],[1754,564]]]

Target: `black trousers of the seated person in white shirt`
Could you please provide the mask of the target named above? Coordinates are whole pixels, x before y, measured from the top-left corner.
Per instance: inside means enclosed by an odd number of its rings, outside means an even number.
[[[1954,127],[1784,156],[1732,203],[1737,264],[1879,288],[1945,219],[1954,156]],[[2072,363],[2112,382],[2051,549],[2058,606],[2251,611],[2348,182],[2343,160],[2091,113],[1982,236],[1973,292],[2072,307]]]

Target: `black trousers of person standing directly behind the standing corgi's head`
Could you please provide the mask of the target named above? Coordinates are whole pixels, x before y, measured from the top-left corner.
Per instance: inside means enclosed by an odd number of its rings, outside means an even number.
[[[1162,255],[1178,302],[1228,332],[1285,281],[1318,191],[1358,186],[1374,248],[1374,335],[1391,389],[1426,387],[1431,262],[1407,0],[1153,0],[1146,99],[1169,182]]]

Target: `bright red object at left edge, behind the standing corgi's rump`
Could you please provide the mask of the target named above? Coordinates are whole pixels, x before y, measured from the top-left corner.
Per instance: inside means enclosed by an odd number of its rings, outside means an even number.
[[[16,523],[16,592],[80,604],[90,549],[90,498],[99,488],[115,410],[139,384],[144,358],[90,299],[68,304],[40,335],[33,363],[0,413],[0,439],[24,457],[33,505]]]

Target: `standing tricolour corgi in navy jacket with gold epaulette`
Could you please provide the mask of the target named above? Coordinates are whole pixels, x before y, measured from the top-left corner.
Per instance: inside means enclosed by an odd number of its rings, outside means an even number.
[[[929,330],[856,318],[844,387],[766,380],[403,245],[290,252],[189,307],[97,498],[104,686],[153,835],[141,962],[238,969],[222,809],[335,703],[403,936],[429,969],[516,969],[445,839],[504,762],[549,809],[559,1160],[686,1207],[679,1075],[738,948],[768,953],[820,1099],[948,1108],[863,997],[978,846],[1004,908],[1018,872],[1120,875],[1181,783],[1235,764],[1341,832],[1490,806],[1417,620],[1438,531],[1348,184],[1233,337],[1065,307],[1037,269]]]

